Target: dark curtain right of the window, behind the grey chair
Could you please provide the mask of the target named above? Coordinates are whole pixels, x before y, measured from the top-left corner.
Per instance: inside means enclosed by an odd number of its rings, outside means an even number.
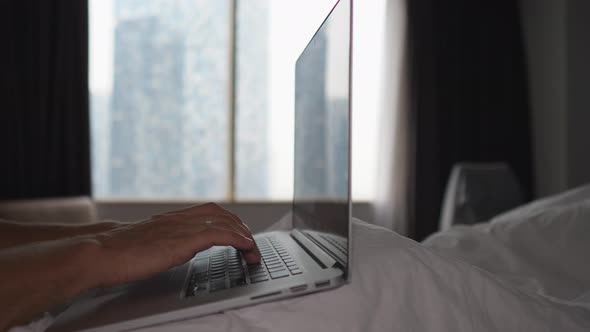
[[[459,161],[506,161],[530,197],[531,134],[518,1],[408,0],[413,237],[438,229]]]

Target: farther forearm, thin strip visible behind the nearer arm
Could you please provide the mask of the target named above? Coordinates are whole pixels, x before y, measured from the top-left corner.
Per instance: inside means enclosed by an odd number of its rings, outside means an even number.
[[[105,232],[120,225],[121,223],[114,221],[84,225],[43,225],[0,220],[0,250],[34,242]]]

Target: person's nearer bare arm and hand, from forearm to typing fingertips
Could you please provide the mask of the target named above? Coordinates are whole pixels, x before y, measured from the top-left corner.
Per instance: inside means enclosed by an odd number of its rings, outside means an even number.
[[[0,331],[84,290],[150,278],[216,245],[241,250],[248,263],[260,262],[247,226],[211,203],[93,235],[0,250]]]

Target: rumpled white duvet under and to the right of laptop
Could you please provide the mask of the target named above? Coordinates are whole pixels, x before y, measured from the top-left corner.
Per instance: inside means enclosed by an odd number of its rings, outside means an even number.
[[[349,285],[142,331],[590,331],[590,187],[425,244],[352,237]]]

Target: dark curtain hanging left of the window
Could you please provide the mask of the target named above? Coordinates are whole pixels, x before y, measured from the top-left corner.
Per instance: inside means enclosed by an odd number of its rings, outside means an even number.
[[[0,4],[0,199],[90,194],[88,5]]]

